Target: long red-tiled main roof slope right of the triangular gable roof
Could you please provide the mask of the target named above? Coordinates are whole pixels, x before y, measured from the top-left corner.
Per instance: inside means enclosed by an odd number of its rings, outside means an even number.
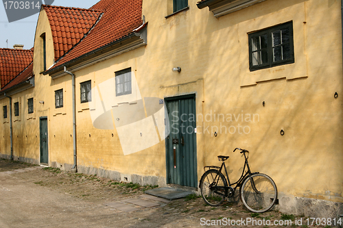
[[[102,0],[90,8],[93,9],[104,12],[102,18],[78,45],[58,60],[53,68],[128,36],[143,24],[142,0]]]

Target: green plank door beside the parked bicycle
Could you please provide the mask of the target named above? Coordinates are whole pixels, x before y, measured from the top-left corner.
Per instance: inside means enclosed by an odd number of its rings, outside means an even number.
[[[170,134],[166,138],[167,183],[196,188],[196,96],[165,99]]]

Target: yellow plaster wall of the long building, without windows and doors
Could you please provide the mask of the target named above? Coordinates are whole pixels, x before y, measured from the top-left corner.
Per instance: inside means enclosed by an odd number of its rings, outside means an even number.
[[[168,1],[144,0],[143,15],[149,22],[147,46],[73,72],[78,165],[165,177],[164,140],[124,156],[117,130],[95,129],[88,103],[80,103],[80,83],[91,79],[94,88],[115,77],[116,71],[131,67],[141,97],[196,94],[198,179],[204,165],[219,164],[216,156],[220,154],[230,155],[226,162],[229,175],[237,179],[244,159],[232,151],[241,147],[251,151],[252,170],[270,175],[281,194],[343,202],[340,2],[267,0],[220,18],[208,8],[199,10],[196,2],[189,0],[189,10],[165,18]],[[250,72],[248,33],[287,21],[293,21],[295,63]],[[48,116],[49,163],[73,164],[71,76],[51,79],[39,74],[38,40],[43,32],[50,66],[54,60],[52,36],[47,16],[40,12],[32,92],[36,120],[25,121],[22,131],[32,129],[31,137],[39,136],[38,118]],[[181,73],[171,71],[175,66],[182,68]],[[56,109],[54,91],[60,88],[64,107]],[[335,92],[338,99],[333,98]],[[15,99],[21,97],[25,103],[27,96],[28,91]],[[224,114],[224,120],[218,120],[218,114]],[[19,122],[15,131],[24,127]],[[235,134],[228,132],[234,128]],[[3,137],[7,133],[1,134],[1,144],[8,151],[9,141]],[[29,140],[23,142],[29,145]],[[38,159],[39,140],[32,142],[32,152],[22,153]],[[22,146],[15,147],[20,151]]]

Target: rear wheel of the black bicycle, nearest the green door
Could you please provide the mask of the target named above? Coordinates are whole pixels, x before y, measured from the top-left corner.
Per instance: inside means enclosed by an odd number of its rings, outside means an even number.
[[[212,207],[220,205],[225,199],[226,179],[218,170],[207,170],[200,179],[202,199]]]

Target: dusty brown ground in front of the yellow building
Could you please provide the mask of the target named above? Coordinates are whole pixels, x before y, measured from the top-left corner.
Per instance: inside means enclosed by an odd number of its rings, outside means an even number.
[[[274,221],[283,223],[282,218],[290,218],[293,224],[282,227],[311,227],[305,223],[296,226],[292,215],[275,211],[253,214],[233,203],[209,207],[196,196],[168,201],[144,194],[151,188],[156,186],[118,183],[0,159],[0,227],[174,228],[217,223],[214,227],[266,228],[281,227],[274,226]],[[250,224],[226,225],[228,219],[245,223],[250,220]]]

